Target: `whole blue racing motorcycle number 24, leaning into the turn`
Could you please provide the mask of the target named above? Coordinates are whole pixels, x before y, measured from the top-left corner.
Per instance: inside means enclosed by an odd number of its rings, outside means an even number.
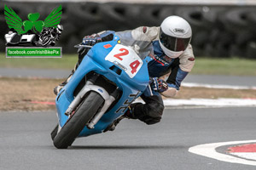
[[[96,43],[55,99],[58,125],[51,133],[58,149],[79,137],[102,133],[147,88],[150,57],[113,41]]]

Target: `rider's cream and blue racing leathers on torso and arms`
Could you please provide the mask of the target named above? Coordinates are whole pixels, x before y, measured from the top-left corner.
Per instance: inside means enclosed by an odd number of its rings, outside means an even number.
[[[159,42],[160,27],[141,26],[131,31],[119,31],[122,44],[138,46],[137,51],[141,57],[150,56],[152,60],[148,63],[149,77],[159,77],[168,83],[168,90],[162,93],[163,96],[172,98],[177,94],[181,82],[192,70],[195,64],[195,56],[192,46],[183,51],[177,58],[168,57],[160,48]],[[101,33],[99,33],[101,34]],[[108,31],[102,32],[102,37],[108,35]],[[159,95],[150,86],[144,92],[145,96]]]

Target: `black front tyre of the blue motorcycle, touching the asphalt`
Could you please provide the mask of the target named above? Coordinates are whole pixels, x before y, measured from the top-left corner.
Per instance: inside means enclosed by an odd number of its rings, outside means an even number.
[[[86,123],[96,114],[104,103],[100,94],[91,91],[90,94],[81,102],[78,109],[67,120],[61,131],[54,138],[54,145],[58,149],[67,149],[79,133],[83,130]]]

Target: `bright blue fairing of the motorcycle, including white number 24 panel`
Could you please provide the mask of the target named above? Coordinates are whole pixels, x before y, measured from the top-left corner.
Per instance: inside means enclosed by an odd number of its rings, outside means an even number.
[[[59,124],[63,127],[68,118],[64,113],[74,99],[74,90],[90,71],[95,71],[108,78],[109,81],[114,82],[119,87],[119,90],[122,91],[119,101],[110,111],[102,116],[100,121],[96,123],[95,128],[88,129],[84,127],[79,137],[102,133],[110,123],[125,113],[128,105],[137,99],[148,86],[148,62],[150,58],[146,57],[142,60],[132,48],[125,47],[118,42],[119,37],[115,36],[111,42],[96,43],[88,54],[84,56],[73,77],[61,89],[61,92],[55,99]],[[113,65],[122,71],[117,74],[115,71],[109,69]],[[100,94],[101,90],[99,89],[97,93]]]

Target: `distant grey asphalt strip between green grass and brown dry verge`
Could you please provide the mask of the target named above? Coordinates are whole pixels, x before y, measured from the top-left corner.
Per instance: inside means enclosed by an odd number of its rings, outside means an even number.
[[[67,78],[71,71],[52,69],[20,69],[0,68],[0,77],[41,77],[41,78]],[[183,82],[196,82],[202,84],[224,84],[230,86],[256,86],[255,77],[220,76],[220,75],[190,75]]]

